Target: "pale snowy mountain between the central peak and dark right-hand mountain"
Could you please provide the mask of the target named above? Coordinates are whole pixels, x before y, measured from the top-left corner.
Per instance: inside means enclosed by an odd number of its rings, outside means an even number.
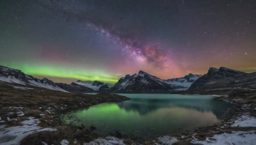
[[[200,74],[191,74],[181,77],[181,78],[172,78],[167,79],[165,83],[171,84],[171,85],[177,85],[177,86],[184,86],[184,90],[187,90],[192,83],[194,83],[198,78],[200,78],[202,75]]]

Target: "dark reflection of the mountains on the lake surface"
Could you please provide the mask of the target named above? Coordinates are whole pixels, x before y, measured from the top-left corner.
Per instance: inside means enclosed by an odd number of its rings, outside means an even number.
[[[230,107],[227,102],[216,102],[212,99],[131,99],[119,102],[118,106],[126,111],[137,111],[141,115],[164,107],[183,107],[200,112],[212,112],[218,118]]]

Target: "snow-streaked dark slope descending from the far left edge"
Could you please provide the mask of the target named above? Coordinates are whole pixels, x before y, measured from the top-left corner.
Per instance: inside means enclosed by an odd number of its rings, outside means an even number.
[[[33,78],[33,76],[24,74],[20,70],[11,69],[9,67],[4,66],[0,66],[0,81],[6,81],[8,83],[19,83],[22,85],[33,85],[41,88],[47,88],[50,90],[67,92],[66,90],[63,90],[62,88],[57,86],[53,81],[47,78]]]

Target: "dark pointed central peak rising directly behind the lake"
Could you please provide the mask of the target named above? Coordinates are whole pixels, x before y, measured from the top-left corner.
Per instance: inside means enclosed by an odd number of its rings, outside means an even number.
[[[190,80],[190,79],[189,79]],[[192,79],[191,79],[192,81]],[[164,93],[177,90],[186,90],[188,86],[180,86],[170,83],[147,72],[140,71],[138,74],[127,74],[109,90],[111,93]]]

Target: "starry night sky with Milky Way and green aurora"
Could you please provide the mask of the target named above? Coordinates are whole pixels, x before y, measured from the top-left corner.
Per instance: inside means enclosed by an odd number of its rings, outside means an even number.
[[[2,0],[0,65],[64,83],[254,72],[256,1]]]

